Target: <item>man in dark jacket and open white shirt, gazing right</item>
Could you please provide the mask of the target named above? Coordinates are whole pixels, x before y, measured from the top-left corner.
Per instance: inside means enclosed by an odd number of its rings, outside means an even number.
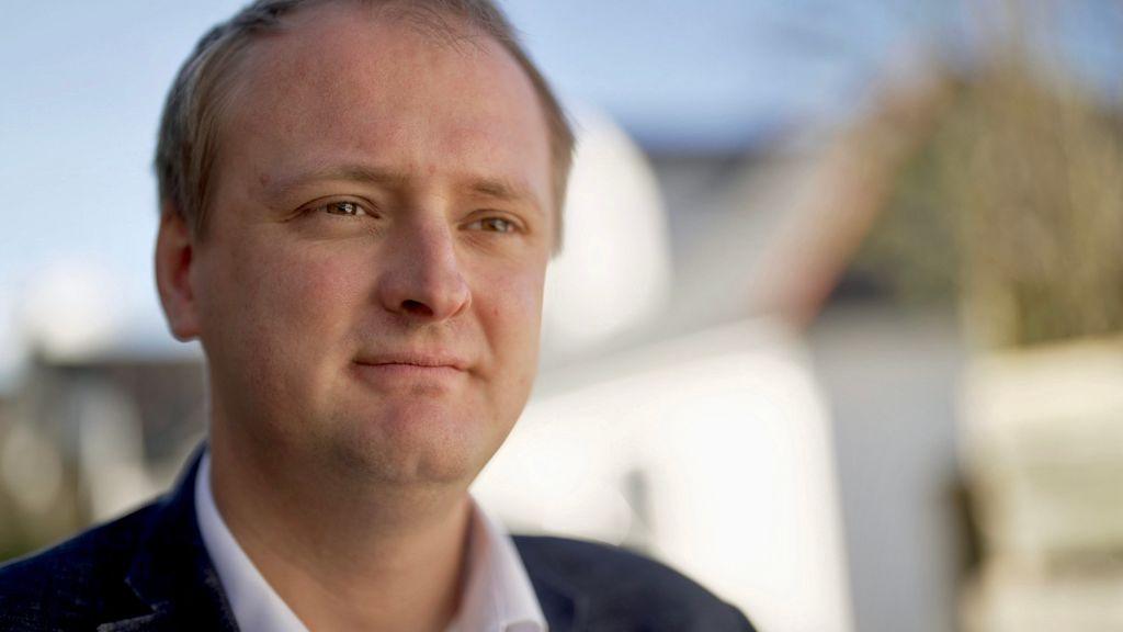
[[[572,147],[487,0],[259,0],[204,37],[156,278],[209,441],[167,497],[0,571],[0,628],[749,630],[467,494],[530,391]]]

